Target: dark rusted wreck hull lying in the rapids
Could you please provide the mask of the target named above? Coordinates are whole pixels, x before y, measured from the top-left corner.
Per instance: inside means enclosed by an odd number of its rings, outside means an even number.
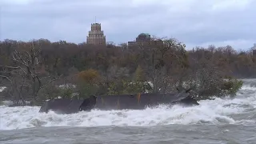
[[[182,104],[186,106],[199,105],[197,100],[190,97],[188,90],[178,94],[122,94],[90,96],[78,100],[71,98],[58,98],[47,101],[41,106],[39,112],[54,111],[57,114],[74,114],[79,111],[90,110],[143,110],[147,106],[159,104]]]

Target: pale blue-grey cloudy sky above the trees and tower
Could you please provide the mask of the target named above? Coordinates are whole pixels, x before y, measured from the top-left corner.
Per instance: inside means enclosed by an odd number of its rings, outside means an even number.
[[[256,0],[0,0],[0,39],[86,42],[95,16],[116,44],[140,33],[188,48],[256,42]]]

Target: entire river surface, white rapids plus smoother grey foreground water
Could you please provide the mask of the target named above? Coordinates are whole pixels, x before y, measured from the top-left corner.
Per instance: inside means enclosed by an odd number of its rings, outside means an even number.
[[[200,106],[39,114],[40,107],[0,106],[1,144],[256,144],[256,79],[236,98]]]

